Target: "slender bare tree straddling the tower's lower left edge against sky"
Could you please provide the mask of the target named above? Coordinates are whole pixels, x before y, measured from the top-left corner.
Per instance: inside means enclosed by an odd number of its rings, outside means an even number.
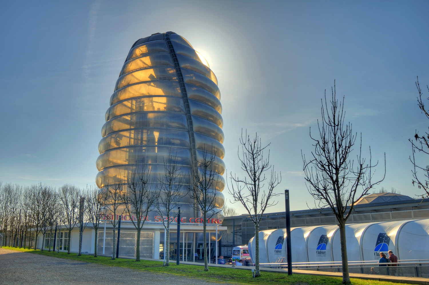
[[[100,191],[97,187],[90,187],[86,190],[85,196],[88,218],[95,230],[94,257],[97,257],[98,228],[101,223],[100,215],[105,211],[107,193],[106,191]]]

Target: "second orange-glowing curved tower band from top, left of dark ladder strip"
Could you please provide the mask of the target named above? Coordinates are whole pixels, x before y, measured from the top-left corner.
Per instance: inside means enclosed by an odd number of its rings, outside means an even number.
[[[133,58],[124,64],[120,76],[139,68],[161,65],[174,66],[169,52],[158,52]]]

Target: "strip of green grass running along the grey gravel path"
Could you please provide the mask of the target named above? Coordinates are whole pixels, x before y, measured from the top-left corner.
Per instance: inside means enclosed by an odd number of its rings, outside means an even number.
[[[234,268],[223,268],[223,267],[209,267],[208,272],[204,272],[204,267],[199,265],[184,265],[179,266],[176,263],[171,262],[169,267],[163,267],[162,261],[140,261],[136,262],[133,259],[117,258],[110,260],[108,257],[96,257],[92,255],[77,256],[75,254],[66,254],[64,252],[55,253],[48,252],[47,250],[33,250],[33,249],[18,249],[12,247],[3,247],[3,249],[16,250],[20,252],[30,252],[35,254],[47,255],[58,258],[67,258],[73,260],[79,260],[83,262],[92,262],[98,264],[105,264],[110,266],[127,267],[136,270],[148,270],[159,273],[177,274],[181,276],[199,277],[204,279],[212,279],[216,281],[229,281],[242,284],[252,285],[277,285],[277,284],[290,284],[290,285],[340,285],[342,279],[339,277],[330,276],[317,276],[317,275],[306,275],[306,274],[293,274],[288,276],[287,273],[271,273],[261,272],[261,277],[253,278],[250,270],[240,270]],[[398,283],[375,281],[375,280],[363,280],[363,279],[351,279],[352,284],[356,285],[398,285]],[[404,284],[404,283],[402,283]]]

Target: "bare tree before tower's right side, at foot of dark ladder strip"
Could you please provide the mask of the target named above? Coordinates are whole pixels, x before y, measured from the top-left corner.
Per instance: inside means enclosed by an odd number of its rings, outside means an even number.
[[[221,212],[216,205],[216,185],[219,181],[219,173],[215,163],[215,151],[211,147],[211,152],[202,151],[202,158],[198,161],[198,168],[192,173],[193,185],[188,188],[190,198],[195,201],[193,205],[196,212],[202,214],[202,235],[204,243],[204,271],[208,271],[207,259],[207,220]],[[210,241],[209,241],[210,242]]]

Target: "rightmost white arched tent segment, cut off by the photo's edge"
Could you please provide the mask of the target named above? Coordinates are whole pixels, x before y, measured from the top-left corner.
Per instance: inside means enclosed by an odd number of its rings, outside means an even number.
[[[397,237],[398,259],[428,259],[429,258],[429,221],[428,219],[409,221],[399,230]]]

